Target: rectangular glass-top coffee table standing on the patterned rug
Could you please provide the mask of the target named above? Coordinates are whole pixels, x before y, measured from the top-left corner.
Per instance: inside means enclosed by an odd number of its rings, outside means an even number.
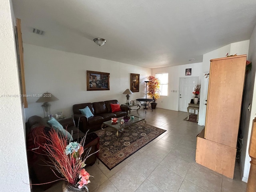
[[[119,134],[120,134],[120,130],[127,128],[129,126],[131,126],[132,124],[136,124],[138,122],[143,122],[144,124],[146,124],[146,120],[144,118],[140,118],[137,116],[134,116],[134,119],[130,119],[128,122],[124,122],[124,124],[120,124],[121,120],[123,119],[123,117],[118,118],[118,122],[116,123],[112,123],[112,120],[103,122],[103,124],[101,125],[101,129],[105,131],[106,134],[106,130],[115,130],[116,131],[116,138],[117,138],[117,144],[118,144],[118,138],[119,138]]]

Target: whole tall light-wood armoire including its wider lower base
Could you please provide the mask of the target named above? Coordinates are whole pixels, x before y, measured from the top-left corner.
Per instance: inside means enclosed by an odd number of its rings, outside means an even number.
[[[233,178],[246,55],[210,60],[205,128],[196,141],[196,162]]]

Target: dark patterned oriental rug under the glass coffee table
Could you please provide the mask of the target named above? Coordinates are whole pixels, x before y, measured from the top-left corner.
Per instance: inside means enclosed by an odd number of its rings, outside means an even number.
[[[99,160],[111,170],[140,148],[154,140],[166,130],[138,122],[119,131],[117,143],[116,131],[97,132],[100,137]]]

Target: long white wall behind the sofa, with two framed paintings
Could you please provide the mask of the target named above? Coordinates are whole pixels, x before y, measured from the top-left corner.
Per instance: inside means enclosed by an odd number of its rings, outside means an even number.
[[[98,47],[100,48],[100,46]],[[130,100],[145,98],[144,80],[151,75],[151,69],[74,54],[30,44],[24,44],[24,64],[27,94],[43,94],[48,91],[59,100],[51,102],[51,113],[63,111],[71,116],[72,105],[117,99],[126,103],[130,89],[130,74],[140,74],[140,92],[130,95]],[[110,90],[87,91],[86,70],[110,73]],[[42,103],[38,98],[27,98],[26,119],[32,115],[44,116]]]

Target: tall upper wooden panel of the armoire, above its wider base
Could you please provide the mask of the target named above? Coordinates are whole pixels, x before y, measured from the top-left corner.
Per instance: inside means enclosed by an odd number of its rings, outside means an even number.
[[[205,138],[236,148],[246,55],[211,60]]]

